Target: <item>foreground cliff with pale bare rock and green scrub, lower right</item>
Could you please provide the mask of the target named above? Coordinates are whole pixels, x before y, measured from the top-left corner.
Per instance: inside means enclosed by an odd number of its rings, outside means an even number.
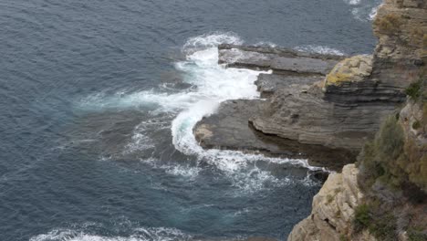
[[[329,175],[288,241],[427,240],[427,79],[420,83],[366,143],[359,167]]]

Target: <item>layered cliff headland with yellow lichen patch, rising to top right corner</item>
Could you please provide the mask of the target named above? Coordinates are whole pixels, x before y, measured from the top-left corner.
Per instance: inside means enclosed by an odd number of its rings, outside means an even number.
[[[405,100],[427,56],[426,1],[387,0],[373,24],[372,56],[341,60],[324,81],[284,88],[252,119],[258,131],[308,144],[359,150]]]

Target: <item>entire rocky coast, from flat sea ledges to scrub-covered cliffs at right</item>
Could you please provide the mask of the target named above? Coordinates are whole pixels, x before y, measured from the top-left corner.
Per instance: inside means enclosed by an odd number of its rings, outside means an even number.
[[[290,241],[427,240],[427,2],[384,0],[373,31],[373,54],[353,57],[218,47],[227,68],[270,72],[262,100],[225,101],[194,126],[203,148],[344,167]]]

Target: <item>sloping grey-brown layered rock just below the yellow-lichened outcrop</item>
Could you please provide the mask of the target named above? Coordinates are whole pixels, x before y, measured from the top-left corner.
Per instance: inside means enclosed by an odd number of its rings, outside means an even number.
[[[251,119],[256,130],[305,144],[359,151],[378,130],[394,104],[338,104],[322,98],[317,86],[276,91],[266,108]]]

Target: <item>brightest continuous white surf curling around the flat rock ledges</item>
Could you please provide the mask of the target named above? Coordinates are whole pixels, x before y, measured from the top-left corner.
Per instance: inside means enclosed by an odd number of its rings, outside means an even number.
[[[213,42],[210,42],[213,39]],[[201,36],[192,38],[185,44],[183,51],[189,53],[186,61],[176,64],[176,68],[185,73],[185,81],[197,86],[199,101],[194,101],[187,109],[182,110],[172,121],[172,142],[177,150],[188,155],[195,155],[198,160],[208,162],[223,171],[234,181],[234,186],[246,191],[259,190],[264,183],[286,184],[271,173],[256,168],[256,162],[291,163],[309,169],[317,169],[307,164],[307,160],[269,158],[261,154],[247,154],[236,151],[203,150],[193,136],[193,126],[203,116],[212,114],[219,103],[224,100],[257,99],[254,81],[260,71],[224,68],[218,65],[218,39],[227,43],[242,43],[231,37]],[[203,43],[205,46],[201,44]],[[198,51],[187,51],[186,48],[198,48]]]

